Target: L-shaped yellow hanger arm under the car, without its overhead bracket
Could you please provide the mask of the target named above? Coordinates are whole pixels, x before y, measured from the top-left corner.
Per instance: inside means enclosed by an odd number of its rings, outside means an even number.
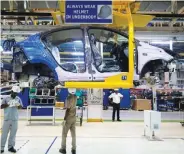
[[[66,88],[131,88],[133,87],[134,77],[134,23],[131,14],[130,4],[125,4],[125,14],[123,18],[127,19],[128,22],[128,33],[129,33],[129,72],[122,72],[115,76],[110,76],[105,79],[104,82],[65,82]],[[125,76],[126,80],[122,80]]]

